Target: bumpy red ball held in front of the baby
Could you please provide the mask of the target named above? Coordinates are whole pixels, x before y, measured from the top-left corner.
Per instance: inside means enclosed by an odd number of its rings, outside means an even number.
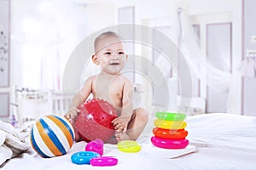
[[[95,139],[107,141],[113,136],[113,119],[117,117],[117,112],[113,105],[103,99],[90,99],[79,105],[79,116],[75,122],[75,127],[87,142]]]

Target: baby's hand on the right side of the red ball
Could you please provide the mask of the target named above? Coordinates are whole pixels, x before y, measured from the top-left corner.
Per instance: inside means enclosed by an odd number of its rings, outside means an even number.
[[[130,120],[131,116],[119,116],[112,121],[113,127],[118,133],[122,131],[123,133],[126,133],[127,125],[130,122]]]

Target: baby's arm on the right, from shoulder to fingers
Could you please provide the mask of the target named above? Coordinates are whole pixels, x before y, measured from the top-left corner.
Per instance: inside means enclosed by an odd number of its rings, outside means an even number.
[[[123,89],[123,100],[122,100],[122,112],[119,117],[113,120],[113,127],[118,132],[123,131],[126,133],[128,123],[131,121],[131,115],[133,111],[132,104],[133,97],[133,84],[129,80],[125,82]]]

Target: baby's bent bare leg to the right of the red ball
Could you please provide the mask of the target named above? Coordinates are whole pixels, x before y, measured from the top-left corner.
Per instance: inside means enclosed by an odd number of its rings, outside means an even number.
[[[148,122],[148,112],[143,108],[138,108],[133,111],[131,116],[131,121],[128,123],[127,132],[119,133],[117,135],[117,140],[136,140],[141,133],[143,133],[143,129]]]

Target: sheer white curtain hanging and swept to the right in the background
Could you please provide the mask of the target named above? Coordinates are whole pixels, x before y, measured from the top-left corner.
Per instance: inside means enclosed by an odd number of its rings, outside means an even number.
[[[207,62],[206,57],[201,53],[200,43],[189,20],[189,16],[183,11],[180,14],[180,23],[177,26],[180,26],[181,31],[180,49],[191,69],[195,71],[196,76],[212,88],[220,91],[229,90],[231,82],[230,72],[220,70],[212,65],[212,63]],[[227,67],[225,64],[224,59],[218,60],[218,65]]]

